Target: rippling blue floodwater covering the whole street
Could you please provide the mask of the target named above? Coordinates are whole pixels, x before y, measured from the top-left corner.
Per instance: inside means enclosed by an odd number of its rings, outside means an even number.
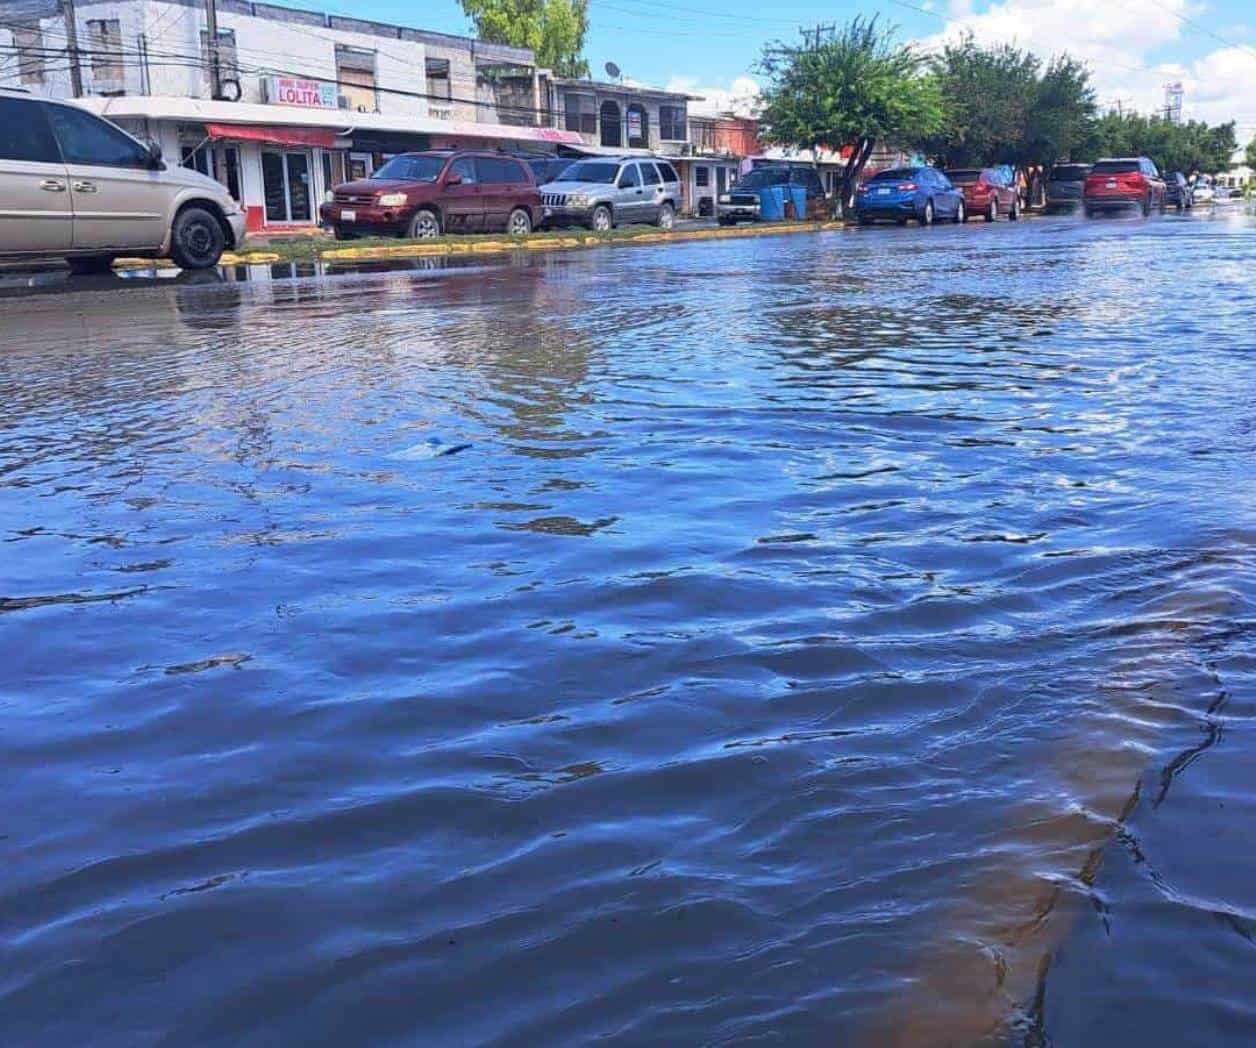
[[[1250,1044],[1253,264],[16,281],[0,1043]]]

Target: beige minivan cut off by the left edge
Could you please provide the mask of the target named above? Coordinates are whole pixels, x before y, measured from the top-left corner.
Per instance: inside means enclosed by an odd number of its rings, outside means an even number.
[[[0,256],[60,255],[77,273],[118,255],[208,269],[244,240],[226,186],[87,109],[0,90]]]

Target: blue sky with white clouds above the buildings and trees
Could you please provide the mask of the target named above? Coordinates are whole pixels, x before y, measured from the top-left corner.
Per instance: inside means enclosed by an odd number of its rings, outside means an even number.
[[[295,6],[350,13],[348,4],[288,0]],[[357,0],[352,13],[430,29],[467,33],[457,0],[416,9],[401,0]],[[745,97],[762,44],[798,39],[798,28],[879,14],[904,39],[936,46],[971,28],[981,39],[1007,40],[1042,55],[1068,50],[1089,60],[1100,99],[1150,109],[1163,83],[1186,85],[1187,116],[1237,117],[1240,139],[1256,133],[1256,10],[1251,0],[590,0],[585,54],[595,72],[610,59],[624,75],[708,94]],[[739,80],[739,78],[742,78]]]

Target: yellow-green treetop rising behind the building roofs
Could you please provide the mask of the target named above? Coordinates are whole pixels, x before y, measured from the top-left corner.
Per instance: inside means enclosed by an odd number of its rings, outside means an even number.
[[[582,57],[589,0],[461,0],[476,35],[491,44],[531,48],[559,77],[588,77]]]

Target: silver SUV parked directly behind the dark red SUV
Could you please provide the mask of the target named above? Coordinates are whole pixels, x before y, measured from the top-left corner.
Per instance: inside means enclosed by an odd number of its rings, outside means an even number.
[[[541,186],[546,225],[584,225],[604,232],[617,225],[676,224],[681,176],[661,157],[579,160]]]

